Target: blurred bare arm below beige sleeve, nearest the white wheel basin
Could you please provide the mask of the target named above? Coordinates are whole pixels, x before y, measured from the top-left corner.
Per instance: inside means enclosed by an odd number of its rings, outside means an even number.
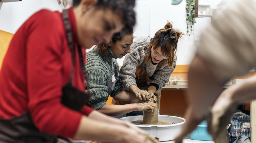
[[[183,137],[192,132],[204,119],[208,108],[223,90],[226,80],[217,81],[217,78],[214,77],[208,66],[203,58],[198,55],[192,60],[188,72],[186,122],[181,134],[176,138],[176,143],[182,143]]]

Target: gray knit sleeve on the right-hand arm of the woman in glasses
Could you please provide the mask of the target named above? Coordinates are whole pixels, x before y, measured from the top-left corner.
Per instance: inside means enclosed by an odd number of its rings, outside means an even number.
[[[161,68],[153,74],[154,80],[149,81],[148,84],[150,83],[157,84],[159,86],[158,90],[161,90],[162,87],[165,87],[166,83],[170,79],[172,72],[176,68],[176,59],[177,58],[175,56],[175,62],[173,64],[173,67],[162,65]]]

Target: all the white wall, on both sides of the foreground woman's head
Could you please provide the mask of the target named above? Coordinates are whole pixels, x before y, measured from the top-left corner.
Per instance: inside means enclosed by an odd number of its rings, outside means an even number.
[[[213,0],[214,1],[214,0]],[[190,64],[194,56],[194,35],[186,33],[186,0],[178,5],[172,5],[171,0],[137,0],[137,24],[134,36],[154,36],[163,28],[167,20],[173,22],[173,27],[181,30],[186,36],[178,43],[177,65]],[[68,0],[68,7],[72,0]],[[19,26],[34,12],[47,8],[62,11],[63,5],[58,5],[57,0],[22,0],[20,2],[3,3],[0,9],[0,29],[15,33]],[[123,59],[118,59],[121,66]]]

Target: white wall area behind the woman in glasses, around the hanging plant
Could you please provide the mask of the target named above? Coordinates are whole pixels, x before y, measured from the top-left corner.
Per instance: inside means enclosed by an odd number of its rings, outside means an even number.
[[[178,43],[177,64],[190,64],[195,51],[193,48],[194,36],[193,33],[188,36],[186,32],[185,7],[186,0],[182,0],[178,5],[172,5],[171,0],[137,0],[135,9],[137,24],[134,36],[153,37],[159,29],[164,28],[167,21],[171,21],[174,28],[181,30],[185,34],[184,38]],[[143,17],[145,17],[144,20],[141,20]],[[122,60],[123,58],[120,59],[120,63]]]

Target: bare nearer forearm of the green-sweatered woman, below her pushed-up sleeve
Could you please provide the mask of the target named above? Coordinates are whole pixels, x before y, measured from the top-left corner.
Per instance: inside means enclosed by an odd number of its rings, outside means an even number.
[[[124,105],[104,105],[97,111],[106,114],[108,116],[117,116],[121,114],[126,114],[132,111],[138,111],[139,107],[136,103],[124,104]]]

